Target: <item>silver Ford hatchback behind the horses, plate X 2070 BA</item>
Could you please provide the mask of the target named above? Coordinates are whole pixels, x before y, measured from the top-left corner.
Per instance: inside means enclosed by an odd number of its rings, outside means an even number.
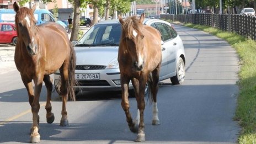
[[[159,81],[170,78],[173,84],[182,84],[185,77],[183,42],[170,23],[145,19],[143,24],[153,26],[162,34],[162,67]],[[77,61],[76,90],[121,90],[118,48],[121,37],[119,20],[105,20],[92,26],[74,44]],[[74,41],[72,43],[75,43]],[[55,83],[60,72],[54,74]],[[129,84],[132,89],[132,84]]]

